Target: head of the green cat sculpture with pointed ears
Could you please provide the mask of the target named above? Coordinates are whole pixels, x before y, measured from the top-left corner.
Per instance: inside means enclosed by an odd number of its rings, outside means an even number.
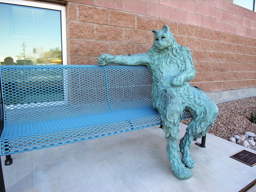
[[[165,48],[171,47],[175,41],[172,33],[168,25],[164,25],[160,30],[153,30],[152,31],[155,35],[154,38],[154,46],[158,50],[163,50]]]

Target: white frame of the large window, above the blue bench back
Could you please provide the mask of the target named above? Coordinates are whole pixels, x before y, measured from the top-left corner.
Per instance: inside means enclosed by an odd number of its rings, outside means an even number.
[[[66,7],[62,5],[53,5],[25,0],[0,0],[0,3],[23,5],[28,7],[37,7],[60,11],[61,15],[61,48],[62,48],[62,65],[67,65],[67,35],[66,35]]]

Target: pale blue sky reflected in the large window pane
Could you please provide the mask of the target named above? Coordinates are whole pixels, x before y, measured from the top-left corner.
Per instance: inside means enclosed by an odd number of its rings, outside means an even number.
[[[23,53],[38,57],[33,48],[49,51],[61,49],[61,13],[58,10],[0,3],[0,61]]]

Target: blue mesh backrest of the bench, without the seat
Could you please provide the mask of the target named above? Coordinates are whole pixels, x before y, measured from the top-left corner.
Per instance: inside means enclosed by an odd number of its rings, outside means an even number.
[[[0,73],[5,126],[151,106],[143,66],[1,66]]]

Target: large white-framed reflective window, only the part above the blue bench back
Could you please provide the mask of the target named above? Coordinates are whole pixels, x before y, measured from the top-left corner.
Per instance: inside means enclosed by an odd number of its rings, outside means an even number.
[[[1,65],[67,64],[65,7],[0,0]]]

